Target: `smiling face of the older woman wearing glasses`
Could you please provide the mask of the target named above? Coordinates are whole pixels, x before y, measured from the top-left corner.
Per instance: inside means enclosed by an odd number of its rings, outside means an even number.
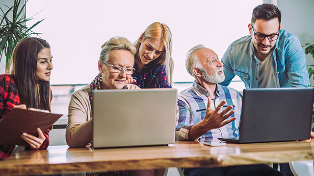
[[[108,55],[106,63],[123,68],[133,68],[134,58],[130,51],[121,49],[111,50]],[[122,89],[127,84],[127,80],[131,78],[131,74],[126,74],[125,70],[117,73],[111,66],[101,61],[98,61],[98,69],[102,74],[103,81],[101,84],[105,89]]]

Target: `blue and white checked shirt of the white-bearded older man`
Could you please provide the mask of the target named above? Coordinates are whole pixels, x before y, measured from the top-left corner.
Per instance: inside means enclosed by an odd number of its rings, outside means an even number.
[[[209,91],[201,87],[194,81],[191,88],[187,88],[178,94],[176,140],[189,140],[189,129],[201,122],[206,114]],[[199,139],[217,139],[218,137],[237,137],[240,123],[242,95],[233,88],[216,85],[216,99],[211,99],[210,109],[214,110],[220,102],[225,100],[227,103],[222,110],[232,105],[235,113],[235,121],[220,127],[212,129],[205,133]],[[228,119],[229,119],[228,118]]]

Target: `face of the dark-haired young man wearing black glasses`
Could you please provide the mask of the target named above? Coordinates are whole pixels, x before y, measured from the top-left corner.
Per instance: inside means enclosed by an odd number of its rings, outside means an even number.
[[[278,18],[274,18],[269,21],[265,21],[262,19],[256,20],[253,24],[253,28],[255,31],[255,34],[263,34],[263,35],[271,35],[271,34],[278,34],[278,29],[281,26],[279,25]],[[254,32],[252,29],[252,25],[249,24],[249,31],[252,35],[252,42],[255,49],[256,57],[263,61],[268,54],[272,51],[274,48],[276,41],[269,41],[267,37],[264,38],[264,40],[257,40],[254,36]]]

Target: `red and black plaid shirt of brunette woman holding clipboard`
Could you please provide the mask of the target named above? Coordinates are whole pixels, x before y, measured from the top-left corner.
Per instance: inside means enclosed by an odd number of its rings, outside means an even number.
[[[0,123],[6,114],[8,114],[13,108],[11,108],[7,102],[12,103],[13,105],[20,105],[20,97],[18,88],[11,75],[2,74],[0,75]],[[44,132],[46,140],[40,146],[39,149],[32,149],[26,147],[28,150],[43,150],[47,149],[49,145],[49,130]],[[14,149],[15,145],[10,144],[0,144],[0,160],[3,160],[10,156]]]

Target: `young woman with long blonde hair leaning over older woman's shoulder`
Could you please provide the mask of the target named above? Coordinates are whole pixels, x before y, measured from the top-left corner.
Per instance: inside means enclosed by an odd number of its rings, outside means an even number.
[[[172,88],[172,34],[169,27],[154,22],[133,45],[136,54],[132,84],[140,88]]]

